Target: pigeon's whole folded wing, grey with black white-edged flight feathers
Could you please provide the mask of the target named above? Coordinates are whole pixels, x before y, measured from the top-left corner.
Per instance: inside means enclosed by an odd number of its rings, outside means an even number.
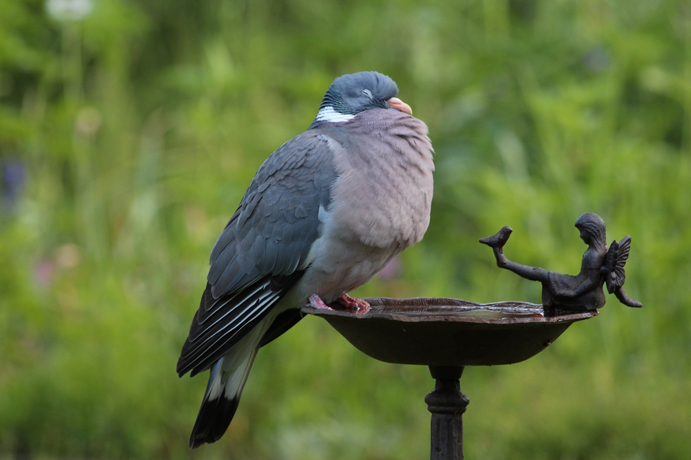
[[[209,368],[300,279],[334,179],[327,144],[309,132],[263,163],[211,252],[178,374]]]

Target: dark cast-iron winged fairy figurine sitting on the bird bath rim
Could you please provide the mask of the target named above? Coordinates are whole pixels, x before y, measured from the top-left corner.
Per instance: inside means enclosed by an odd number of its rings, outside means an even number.
[[[607,250],[605,221],[592,212],[587,212],[576,221],[580,237],[588,245],[583,254],[583,263],[578,275],[571,276],[549,272],[543,268],[531,267],[510,261],[504,255],[504,244],[511,236],[511,227],[504,227],[491,237],[480,240],[494,250],[497,265],[511,270],[520,277],[542,283],[542,306],[545,312],[596,310],[605,305],[603,284],[607,291],[626,306],[640,308],[643,304],[631,299],[624,292],[624,264],[629,257],[631,237],[612,241]]]

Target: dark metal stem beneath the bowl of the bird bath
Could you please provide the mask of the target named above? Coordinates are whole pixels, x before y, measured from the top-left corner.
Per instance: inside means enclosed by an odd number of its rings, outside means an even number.
[[[429,366],[437,383],[425,397],[432,412],[430,460],[463,459],[463,412],[470,399],[461,392],[463,366]]]

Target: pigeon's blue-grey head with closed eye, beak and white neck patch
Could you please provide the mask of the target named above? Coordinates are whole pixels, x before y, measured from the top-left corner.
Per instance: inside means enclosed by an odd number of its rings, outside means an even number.
[[[342,75],[331,83],[310,128],[325,123],[343,123],[373,108],[393,108],[412,114],[413,110],[396,97],[396,82],[379,72]]]

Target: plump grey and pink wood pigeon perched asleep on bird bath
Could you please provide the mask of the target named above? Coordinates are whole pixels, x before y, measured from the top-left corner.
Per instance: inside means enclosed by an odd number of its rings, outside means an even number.
[[[397,94],[379,72],[334,80],[310,128],[267,158],[218,237],[178,360],[180,377],[211,369],[191,448],[223,436],[259,348],[305,303],[366,313],[347,292],[422,239],[433,148]]]

